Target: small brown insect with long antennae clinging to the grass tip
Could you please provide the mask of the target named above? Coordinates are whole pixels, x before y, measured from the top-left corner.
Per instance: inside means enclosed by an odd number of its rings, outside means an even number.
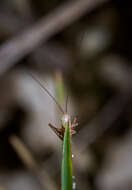
[[[57,102],[54,96],[45,88],[45,86],[38,80],[32,73],[30,73],[31,77],[40,85],[40,87],[52,98],[52,100],[55,102],[57,107],[62,113],[62,118],[61,118],[61,128],[57,128],[53,126],[51,123],[49,123],[49,127],[55,132],[55,134],[63,141],[64,140],[64,134],[65,134],[65,128],[67,124],[69,124],[70,127],[70,133],[71,135],[75,134],[75,127],[78,126],[77,123],[77,117],[74,117],[73,121],[71,122],[71,116],[67,113],[67,103],[68,103],[68,98],[66,100],[66,110],[64,111],[60,104]]]

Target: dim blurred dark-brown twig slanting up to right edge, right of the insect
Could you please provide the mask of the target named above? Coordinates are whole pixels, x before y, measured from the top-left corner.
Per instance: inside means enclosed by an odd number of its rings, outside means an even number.
[[[75,144],[80,148],[82,147],[82,151],[85,150],[89,144],[95,142],[97,138],[111,127],[130,100],[131,96],[127,93],[119,93],[113,97],[97,116],[77,134],[78,138],[76,138]]]

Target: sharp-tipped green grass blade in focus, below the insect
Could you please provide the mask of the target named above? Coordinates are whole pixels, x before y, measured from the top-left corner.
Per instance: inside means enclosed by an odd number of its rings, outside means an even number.
[[[69,122],[66,126],[62,158],[62,190],[72,190],[72,155]]]

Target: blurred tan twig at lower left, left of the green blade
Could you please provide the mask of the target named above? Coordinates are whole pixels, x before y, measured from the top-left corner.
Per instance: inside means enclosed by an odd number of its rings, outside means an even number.
[[[25,144],[15,135],[10,136],[9,142],[14,150],[17,152],[25,166],[29,168],[33,172],[33,174],[35,174],[36,178],[39,180],[42,189],[57,190],[56,184],[53,182],[47,172],[43,171],[43,174],[40,174],[39,166],[36,160],[33,158],[31,152],[25,146]]]

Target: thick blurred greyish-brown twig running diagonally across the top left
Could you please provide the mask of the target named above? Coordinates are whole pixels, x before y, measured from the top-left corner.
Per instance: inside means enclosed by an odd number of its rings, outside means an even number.
[[[52,11],[39,23],[25,30],[22,34],[3,44],[0,47],[0,73],[5,72],[42,42],[45,42],[86,12],[91,11],[105,1],[107,0],[70,1]]]

